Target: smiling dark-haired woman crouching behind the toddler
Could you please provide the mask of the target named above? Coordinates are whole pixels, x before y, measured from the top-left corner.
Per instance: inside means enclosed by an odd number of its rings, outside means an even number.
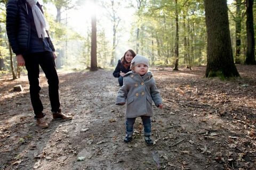
[[[115,71],[113,72],[113,75],[115,78],[118,78],[119,86],[123,86],[123,77],[124,74],[131,71],[131,61],[135,57],[135,52],[132,49],[128,49],[124,56],[121,58],[121,60],[118,60],[117,66]]]

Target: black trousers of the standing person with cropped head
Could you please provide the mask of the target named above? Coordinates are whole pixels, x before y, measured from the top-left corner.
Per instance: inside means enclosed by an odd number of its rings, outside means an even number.
[[[48,80],[52,112],[57,112],[60,108],[59,78],[52,52],[31,53],[23,55],[23,57],[28,71],[29,92],[35,118],[43,117],[42,112],[44,109],[39,96],[39,91],[41,90],[39,86],[39,65]]]

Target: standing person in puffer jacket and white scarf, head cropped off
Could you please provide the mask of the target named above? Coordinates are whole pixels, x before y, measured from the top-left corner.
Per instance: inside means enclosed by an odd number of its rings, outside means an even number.
[[[53,119],[71,120],[61,113],[59,78],[55,67],[54,46],[50,39],[49,25],[37,0],[9,0],[6,5],[6,31],[19,66],[28,71],[29,92],[36,124],[41,128],[49,125],[44,121],[43,105],[39,97],[39,65],[49,84],[49,97]]]

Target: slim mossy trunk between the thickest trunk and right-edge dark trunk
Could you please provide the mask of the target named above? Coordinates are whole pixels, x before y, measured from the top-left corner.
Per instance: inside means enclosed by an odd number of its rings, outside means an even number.
[[[241,0],[236,0],[236,57],[235,63],[241,64],[240,53],[241,53],[241,25],[242,25],[242,16],[241,16]]]

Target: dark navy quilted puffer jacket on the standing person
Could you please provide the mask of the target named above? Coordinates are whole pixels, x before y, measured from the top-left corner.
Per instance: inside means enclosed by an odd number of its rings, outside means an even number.
[[[26,53],[29,50],[28,5],[26,0],[9,0],[6,4],[6,31],[12,50],[16,55]],[[37,6],[43,12],[42,6],[38,2]],[[49,36],[47,40],[54,52],[55,49]]]

